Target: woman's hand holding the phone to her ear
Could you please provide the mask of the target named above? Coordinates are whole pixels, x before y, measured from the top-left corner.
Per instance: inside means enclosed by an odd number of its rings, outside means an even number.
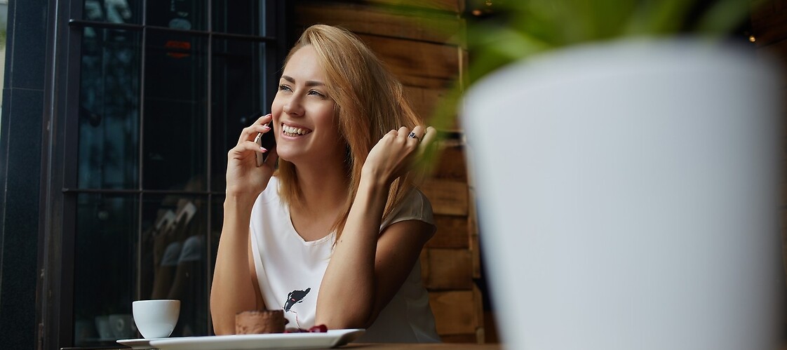
[[[260,149],[254,142],[257,134],[272,132],[268,128],[270,114],[260,116],[251,126],[244,127],[238,138],[238,144],[227,153],[227,195],[249,195],[256,198],[265,187],[275,170],[275,149]],[[261,167],[257,167],[255,153],[267,152],[268,159]]]

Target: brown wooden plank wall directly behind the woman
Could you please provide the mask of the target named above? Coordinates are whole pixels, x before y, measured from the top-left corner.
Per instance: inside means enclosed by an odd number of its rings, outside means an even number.
[[[299,1],[294,20],[299,31],[319,23],[356,33],[427,118],[463,72],[467,54],[455,36],[463,10],[464,0]],[[460,127],[449,131],[460,134]],[[441,154],[422,186],[438,226],[421,255],[423,281],[443,341],[483,342],[482,294],[474,283],[481,276],[478,229],[461,140],[445,142]]]

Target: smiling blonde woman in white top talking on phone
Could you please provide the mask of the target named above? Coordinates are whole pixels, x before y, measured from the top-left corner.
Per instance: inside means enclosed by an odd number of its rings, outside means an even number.
[[[434,220],[410,171],[434,128],[420,126],[368,47],[325,25],[308,28],[290,51],[271,112],[227,157],[216,334],[234,333],[240,311],[283,309],[288,327],[439,341],[417,264]],[[275,149],[253,142],[266,132]],[[257,168],[260,151],[270,157]]]

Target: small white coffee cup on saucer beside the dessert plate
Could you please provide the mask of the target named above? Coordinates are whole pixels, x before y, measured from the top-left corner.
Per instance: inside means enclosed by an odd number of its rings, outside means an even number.
[[[137,300],[132,303],[132,311],[142,337],[169,337],[178,323],[180,300]]]

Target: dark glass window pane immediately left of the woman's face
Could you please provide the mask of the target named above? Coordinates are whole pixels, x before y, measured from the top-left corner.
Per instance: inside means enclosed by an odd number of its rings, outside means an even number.
[[[238,143],[244,127],[270,112],[264,98],[265,45],[216,39],[212,50],[212,190],[224,192],[227,151]]]

